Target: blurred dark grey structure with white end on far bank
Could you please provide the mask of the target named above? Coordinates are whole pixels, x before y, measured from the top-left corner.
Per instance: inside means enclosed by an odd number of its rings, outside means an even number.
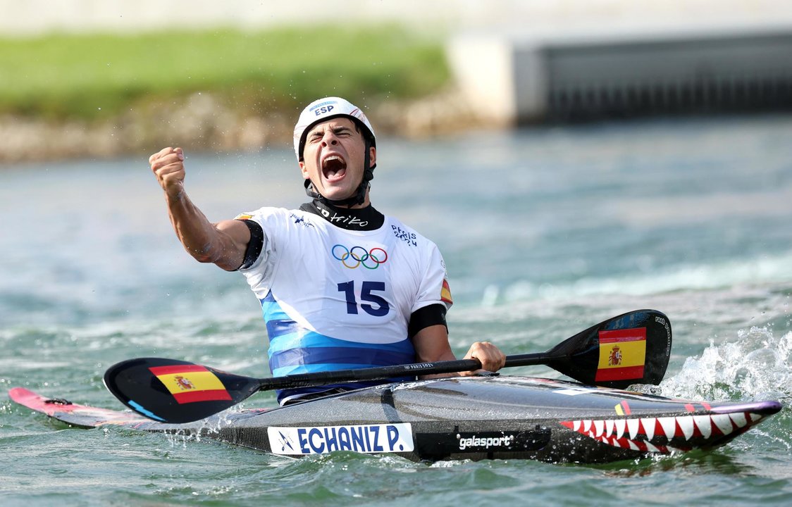
[[[792,110],[792,30],[469,37],[449,55],[466,95],[503,123]]]

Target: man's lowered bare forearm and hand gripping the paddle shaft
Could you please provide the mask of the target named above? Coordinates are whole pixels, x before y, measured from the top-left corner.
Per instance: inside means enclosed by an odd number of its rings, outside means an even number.
[[[416,361],[453,361],[456,359],[451,345],[448,343],[448,331],[442,324],[428,326],[418,331],[413,336],[413,346],[415,347]],[[470,350],[465,354],[465,359],[476,358],[482,363],[482,369],[490,372],[497,372],[503,368],[506,356],[497,346],[490,342],[475,342],[470,346]],[[446,373],[440,375],[427,376],[432,378],[437,376],[456,376],[472,375],[475,372]]]

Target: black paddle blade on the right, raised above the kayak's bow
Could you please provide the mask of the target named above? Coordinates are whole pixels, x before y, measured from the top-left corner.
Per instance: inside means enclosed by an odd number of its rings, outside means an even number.
[[[671,322],[657,310],[636,310],[589,327],[546,354],[554,358],[547,365],[584,384],[660,384],[671,357]]]

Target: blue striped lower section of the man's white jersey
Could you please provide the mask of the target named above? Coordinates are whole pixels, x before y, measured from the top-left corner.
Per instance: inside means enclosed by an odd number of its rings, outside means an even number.
[[[358,343],[320,335],[291,320],[272,297],[272,293],[261,300],[261,309],[269,336],[268,356],[272,376],[284,376],[292,373],[321,373],[340,369],[402,365],[415,362],[415,349],[407,337],[396,343]],[[391,379],[390,381],[399,380],[405,379]],[[365,385],[383,384],[387,381],[333,384],[333,387],[360,388]],[[321,390],[328,388],[326,386]],[[279,391],[278,399],[282,399],[285,395],[317,390],[302,388]]]

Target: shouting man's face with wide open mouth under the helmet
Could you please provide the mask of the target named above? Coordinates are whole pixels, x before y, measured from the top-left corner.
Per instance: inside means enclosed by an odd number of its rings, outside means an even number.
[[[352,197],[363,179],[366,142],[352,119],[333,118],[308,131],[299,167],[303,178],[326,199]],[[377,150],[369,149],[370,164],[376,163]],[[366,197],[366,205],[368,196]]]

